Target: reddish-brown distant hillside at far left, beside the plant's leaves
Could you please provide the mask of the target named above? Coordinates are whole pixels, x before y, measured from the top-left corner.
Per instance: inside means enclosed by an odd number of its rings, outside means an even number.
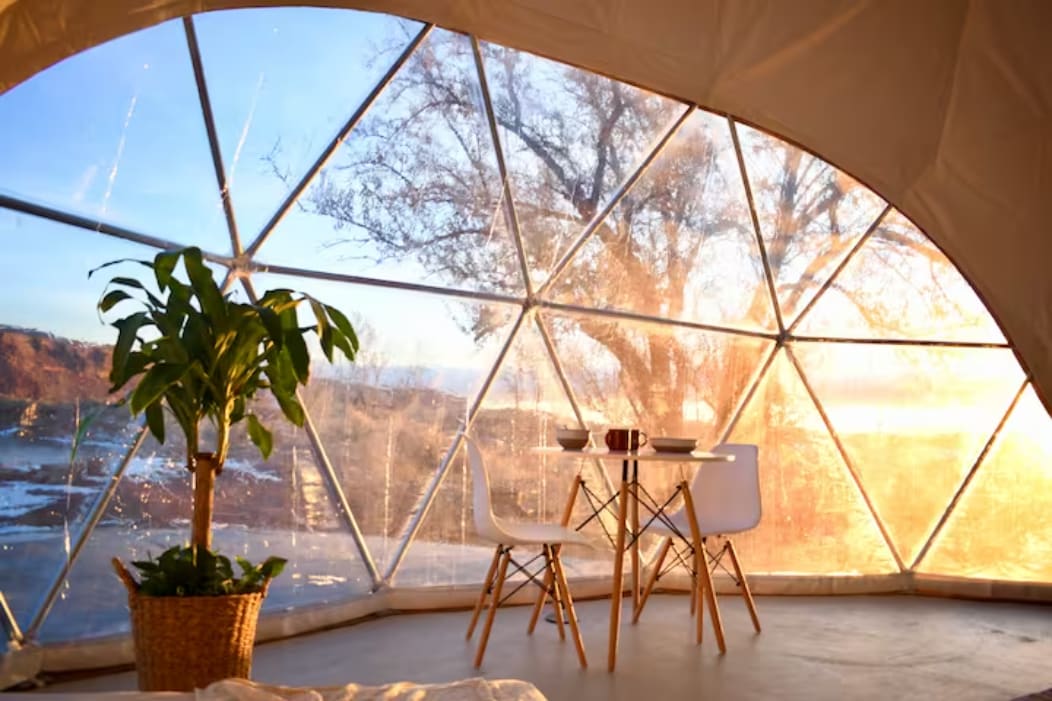
[[[0,324],[0,398],[106,399],[110,346]]]

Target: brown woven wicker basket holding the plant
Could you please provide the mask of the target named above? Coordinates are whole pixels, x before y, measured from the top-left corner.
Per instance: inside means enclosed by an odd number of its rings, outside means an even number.
[[[266,590],[222,597],[140,596],[115,558],[128,589],[139,689],[191,692],[252,668],[256,621]]]

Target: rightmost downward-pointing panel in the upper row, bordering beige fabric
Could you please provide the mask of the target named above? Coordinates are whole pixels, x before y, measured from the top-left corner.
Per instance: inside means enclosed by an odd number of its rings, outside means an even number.
[[[876,221],[885,203],[822,159],[764,132],[742,124],[736,128],[788,326]]]

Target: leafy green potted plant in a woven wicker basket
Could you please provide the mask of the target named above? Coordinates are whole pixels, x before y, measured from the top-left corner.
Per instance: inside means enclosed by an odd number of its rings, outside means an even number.
[[[176,277],[183,264],[184,282]],[[106,263],[102,267],[128,262]],[[161,443],[164,413],[186,441],[186,466],[194,474],[190,543],[134,562],[137,581],[114,558],[128,588],[139,685],[143,690],[190,690],[226,677],[247,677],[256,621],[270,578],[284,565],[271,557],[252,565],[211,552],[215,480],[223,469],[231,428],[241,422],[264,458],[274,439],[252,412],[251,400],[269,393],[282,415],[302,426],[305,418],[297,389],[309,379],[305,337],[317,334],[332,362],[336,352],[353,360],[358,338],[347,318],[312,297],[271,289],[256,301],[224,295],[204,264],[199,248],[158,254],[134,261],[149,269],[153,281],[115,277],[98,303],[101,313],[137,303],[138,311],[113,322],[118,329],[110,392],[126,395],[133,415],[145,415]],[[156,285],[156,289],[154,289]],[[312,324],[302,326],[298,309],[306,302]],[[215,445],[203,449],[208,422]]]

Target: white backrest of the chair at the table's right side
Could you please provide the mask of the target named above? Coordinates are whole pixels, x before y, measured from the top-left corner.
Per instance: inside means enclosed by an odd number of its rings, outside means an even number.
[[[730,462],[705,462],[690,485],[702,535],[741,533],[760,523],[760,448],[722,443],[713,453],[732,455]]]

